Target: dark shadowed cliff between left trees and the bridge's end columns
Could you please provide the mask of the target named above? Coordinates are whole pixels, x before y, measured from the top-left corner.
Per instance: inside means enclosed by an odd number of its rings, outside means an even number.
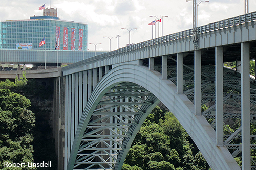
[[[23,91],[23,92],[22,92]],[[34,161],[51,161],[52,167],[57,169],[55,154],[54,129],[54,102],[53,79],[28,80],[27,86],[20,92],[31,101],[30,110],[35,113],[34,128]]]

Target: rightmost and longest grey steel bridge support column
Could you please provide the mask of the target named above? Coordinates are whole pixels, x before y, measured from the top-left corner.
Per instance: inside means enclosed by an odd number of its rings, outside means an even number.
[[[251,169],[250,154],[250,44],[241,43],[242,169]]]

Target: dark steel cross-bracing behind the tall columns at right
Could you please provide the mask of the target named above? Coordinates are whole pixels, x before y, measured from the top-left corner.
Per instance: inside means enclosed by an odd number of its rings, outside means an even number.
[[[188,68],[193,66],[185,66],[183,70],[189,71]],[[201,104],[206,104],[209,108],[202,112],[202,115],[208,120],[211,127],[215,129],[215,66],[202,66],[202,101]],[[241,155],[241,125],[234,132],[229,130],[226,122],[228,119],[241,120],[241,78],[240,74],[233,69],[224,68],[223,76],[223,104],[224,104],[224,145],[235,158]],[[169,80],[176,84],[176,77],[169,77]],[[256,89],[255,80],[250,79],[250,115],[251,124],[256,120]],[[183,75],[183,93],[194,102],[194,72],[184,73]],[[230,108],[230,110],[228,109]],[[251,135],[251,149],[256,149],[255,134]],[[251,157],[251,169],[256,169],[256,160]]]

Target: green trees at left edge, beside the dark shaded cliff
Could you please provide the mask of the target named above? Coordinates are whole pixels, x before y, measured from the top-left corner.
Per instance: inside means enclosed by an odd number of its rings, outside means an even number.
[[[29,106],[30,101],[24,96],[0,89],[0,169],[12,169],[4,167],[3,162],[33,162],[35,115],[27,109]]]

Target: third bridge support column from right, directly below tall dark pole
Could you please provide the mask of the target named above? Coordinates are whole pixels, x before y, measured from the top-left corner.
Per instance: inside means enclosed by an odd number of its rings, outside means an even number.
[[[195,63],[194,63],[194,77],[195,77],[195,98],[194,98],[194,105],[195,105],[195,114],[201,115],[201,50],[194,51]]]

